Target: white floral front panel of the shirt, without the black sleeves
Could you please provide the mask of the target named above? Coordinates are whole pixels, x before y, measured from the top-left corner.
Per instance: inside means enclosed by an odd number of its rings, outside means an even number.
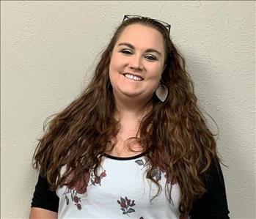
[[[150,203],[150,198],[156,195],[158,187],[146,178],[146,163],[143,155],[128,158],[110,155],[103,157],[98,169],[99,177],[95,177],[93,171],[85,174],[88,179],[85,190],[79,188],[79,183],[73,188],[65,186],[56,190],[59,197],[58,218],[179,219],[178,184],[172,185],[170,204],[164,192],[166,174],[156,169],[153,177],[163,190]]]

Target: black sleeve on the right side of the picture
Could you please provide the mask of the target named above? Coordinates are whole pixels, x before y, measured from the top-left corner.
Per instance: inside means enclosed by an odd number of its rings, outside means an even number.
[[[229,219],[224,177],[219,162],[211,164],[205,183],[208,192],[194,202],[191,219]]]

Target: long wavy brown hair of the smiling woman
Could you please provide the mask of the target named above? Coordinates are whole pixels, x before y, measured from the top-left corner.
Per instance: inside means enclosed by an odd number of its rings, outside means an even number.
[[[133,23],[152,27],[163,36],[167,67],[161,82],[169,91],[164,103],[153,94],[152,110],[143,117],[134,138],[147,152],[150,160],[147,178],[158,185],[156,196],[161,192],[161,185],[153,178],[153,171],[161,168],[180,186],[180,212],[189,212],[194,201],[207,191],[204,179],[211,163],[220,162],[220,159],[215,135],[197,105],[194,83],[185,70],[185,60],[167,29],[153,19],[132,18],[117,27],[87,88],[67,108],[52,115],[54,118],[50,122],[45,120],[45,133],[37,139],[33,166],[40,168],[51,190],[74,185],[83,179],[85,171],[93,170],[98,174],[96,170],[101,159],[109,145],[114,147],[116,141],[113,143],[111,139],[120,130],[120,121],[114,116],[117,108],[109,83],[111,52],[125,27]],[[60,174],[63,166],[66,166],[65,172]],[[68,178],[70,174],[71,179]],[[85,179],[83,185],[87,186]],[[169,200],[172,200],[170,195]]]

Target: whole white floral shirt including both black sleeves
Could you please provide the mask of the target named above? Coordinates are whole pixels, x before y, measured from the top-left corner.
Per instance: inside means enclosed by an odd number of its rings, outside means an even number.
[[[229,219],[224,177],[219,162],[212,162],[205,173],[205,188],[208,190],[194,201],[189,214],[180,214],[180,187],[159,168],[153,171],[158,187],[146,177],[147,156],[112,157],[105,155],[98,177],[92,171],[84,173],[87,186],[77,182],[72,188],[49,190],[45,177],[39,174],[31,207],[40,207],[57,212],[58,218],[98,219]],[[62,168],[65,171],[65,168]],[[71,176],[70,176],[71,177]],[[165,195],[172,182],[172,202]],[[156,196],[150,203],[150,198]]]

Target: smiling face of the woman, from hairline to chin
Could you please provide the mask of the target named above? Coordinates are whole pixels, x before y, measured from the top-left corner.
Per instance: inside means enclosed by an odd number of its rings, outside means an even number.
[[[111,54],[109,78],[114,96],[150,100],[164,71],[164,39],[142,24],[127,26]],[[136,76],[135,78],[132,78]]]

